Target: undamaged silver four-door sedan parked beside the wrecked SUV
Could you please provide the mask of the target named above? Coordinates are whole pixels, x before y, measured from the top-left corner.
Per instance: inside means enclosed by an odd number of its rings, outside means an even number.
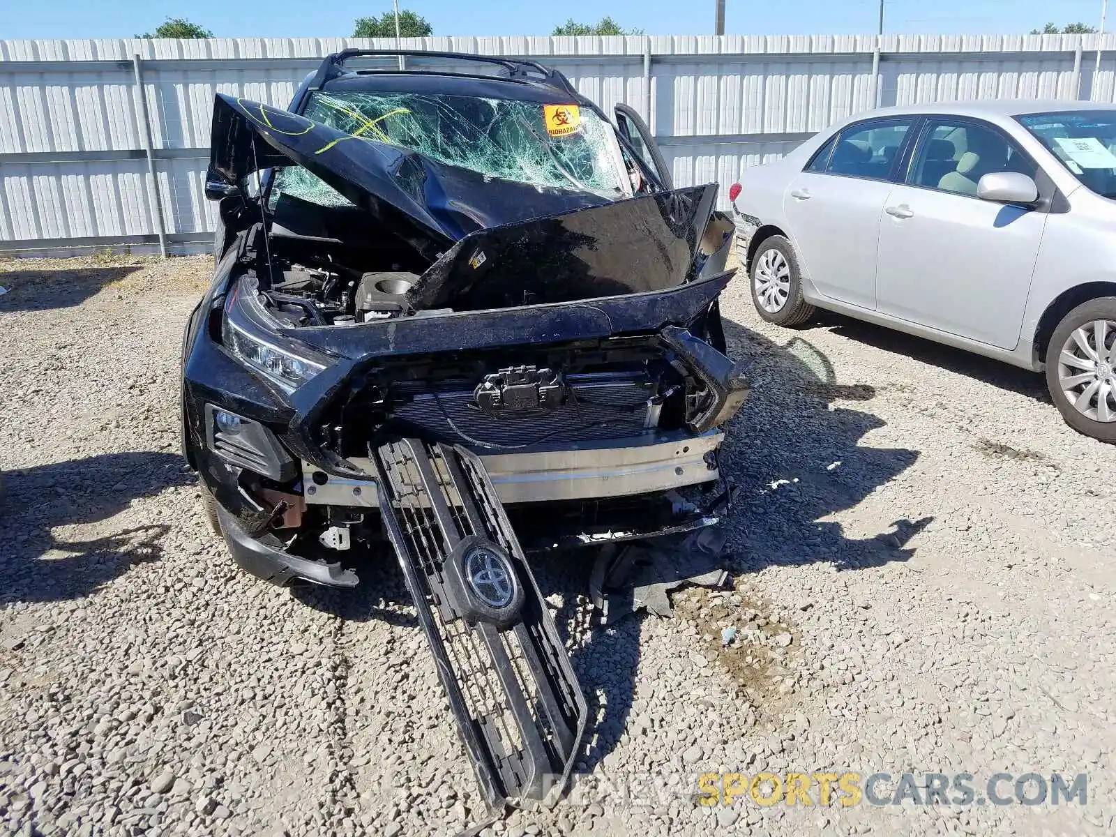
[[[730,189],[763,319],[816,308],[1036,372],[1116,442],[1116,106],[853,117]]]

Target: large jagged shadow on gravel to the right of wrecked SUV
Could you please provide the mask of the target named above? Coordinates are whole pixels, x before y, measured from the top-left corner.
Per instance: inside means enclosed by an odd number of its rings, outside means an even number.
[[[875,389],[836,383],[833,365],[793,336],[783,346],[725,320],[729,354],[750,362],[752,393],[732,421],[722,464],[738,487],[730,543],[743,570],[828,561],[838,569],[906,561],[906,542],[933,518],[906,518],[863,540],[822,518],[859,504],[910,468],[918,451],[862,444],[884,426],[835,402],[868,402]],[[788,333],[789,334],[789,333]]]

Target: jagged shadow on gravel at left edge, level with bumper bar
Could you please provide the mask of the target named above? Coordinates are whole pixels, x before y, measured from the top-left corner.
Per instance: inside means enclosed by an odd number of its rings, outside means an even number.
[[[158,560],[169,526],[121,529],[102,522],[132,500],[192,482],[184,464],[176,454],[136,451],[6,471],[0,605],[81,598],[133,565]],[[77,540],[52,531],[86,525],[93,530]]]

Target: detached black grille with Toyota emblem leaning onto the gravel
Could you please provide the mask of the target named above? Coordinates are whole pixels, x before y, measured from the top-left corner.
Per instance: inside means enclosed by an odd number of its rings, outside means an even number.
[[[402,440],[372,458],[384,526],[481,791],[552,804],[586,703],[547,603],[480,459]]]

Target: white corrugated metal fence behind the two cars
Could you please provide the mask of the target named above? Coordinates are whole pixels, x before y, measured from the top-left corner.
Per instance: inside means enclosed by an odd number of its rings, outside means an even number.
[[[393,46],[0,41],[0,252],[141,252],[161,239],[172,252],[206,249],[213,95],[286,107],[328,52]],[[606,112],[626,102],[648,117],[679,185],[732,183],[745,166],[876,105],[1116,98],[1114,36],[442,37],[405,38],[404,47],[531,57]]]

